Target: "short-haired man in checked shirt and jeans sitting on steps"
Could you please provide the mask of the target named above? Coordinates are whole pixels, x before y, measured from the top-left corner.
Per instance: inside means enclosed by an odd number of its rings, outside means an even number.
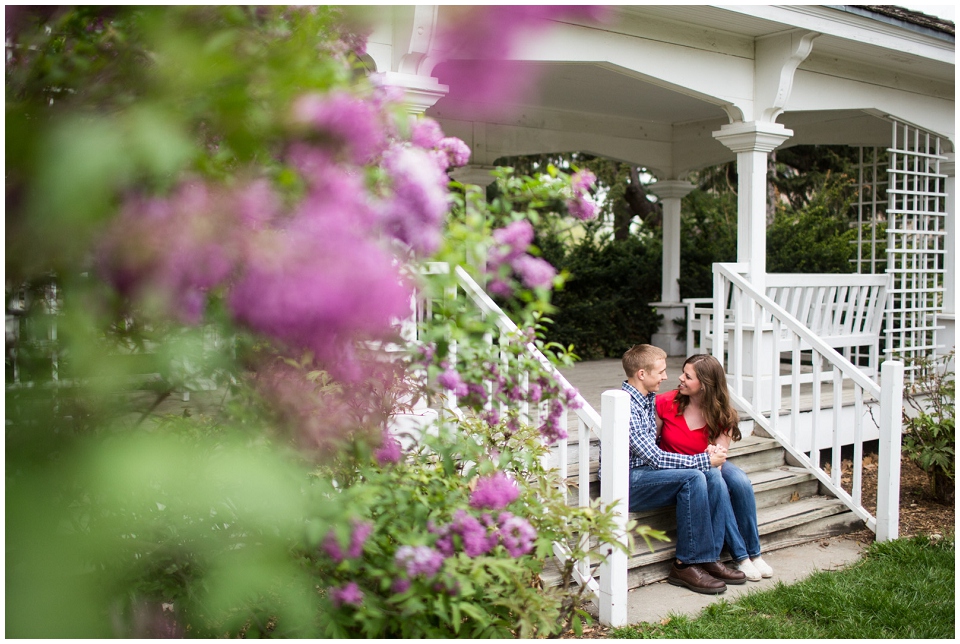
[[[746,583],[746,575],[718,561],[723,547],[723,496],[717,466],[725,451],[686,455],[657,447],[654,400],[667,379],[667,354],[638,344],[623,354],[630,394],[630,511],[677,506],[677,556],[667,581],[698,593],[716,595],[726,584]],[[729,500],[727,501],[729,503]],[[716,527],[715,527],[716,526]]]

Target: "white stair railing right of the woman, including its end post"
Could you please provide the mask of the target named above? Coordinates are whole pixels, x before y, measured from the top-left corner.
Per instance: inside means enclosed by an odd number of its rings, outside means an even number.
[[[729,374],[728,385],[734,405],[749,415],[763,431],[777,439],[793,459],[813,473],[824,487],[863,519],[867,527],[877,532],[878,539],[896,538],[903,363],[884,362],[881,384],[878,385],[862,369],[841,355],[828,340],[821,338],[776,301],[757,291],[741,275],[741,269],[736,264],[714,264],[715,292],[723,295],[715,300],[711,348]],[[768,279],[767,286],[770,285]],[[740,314],[728,315],[728,310]],[[823,311],[807,320],[821,325],[821,329],[835,324],[838,318],[834,316],[830,321],[828,308]],[[747,314],[742,315],[743,312]],[[728,321],[731,316],[733,320]],[[742,321],[741,318],[747,319]],[[839,319],[846,321],[844,317]],[[824,327],[824,324],[827,326]],[[765,342],[764,334],[769,335],[771,341]],[[743,347],[747,342],[753,343],[754,350],[751,352],[753,364],[745,373]],[[765,378],[759,346],[771,349]],[[809,373],[801,373],[801,352],[810,355]],[[789,354],[790,358],[790,374],[784,377],[780,375],[782,353]],[[822,391],[827,384],[830,385],[828,391]],[[781,407],[784,386],[790,389],[787,409]],[[807,396],[801,395],[801,386],[810,387],[809,407],[805,400]],[[844,408],[846,397],[852,398],[852,405],[848,409]],[[768,401],[768,404],[758,404],[761,399]],[[785,431],[784,425],[789,425],[789,431]],[[880,439],[881,483],[876,510],[879,518],[875,518],[864,507],[861,498],[863,443],[874,434]],[[840,448],[849,444],[853,445],[853,455],[852,476],[847,490],[841,484]],[[820,464],[820,450],[826,448],[831,448],[833,455],[829,474]]]

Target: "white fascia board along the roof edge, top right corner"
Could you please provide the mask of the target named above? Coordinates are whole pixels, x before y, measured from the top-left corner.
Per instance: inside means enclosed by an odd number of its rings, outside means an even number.
[[[713,5],[798,29],[955,64],[952,43],[820,5]]]

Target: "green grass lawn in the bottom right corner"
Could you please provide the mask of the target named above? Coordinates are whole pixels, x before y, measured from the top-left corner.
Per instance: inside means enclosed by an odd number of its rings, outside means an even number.
[[[874,543],[857,563],[720,601],[698,617],[615,629],[615,638],[883,638],[955,636],[955,537]]]

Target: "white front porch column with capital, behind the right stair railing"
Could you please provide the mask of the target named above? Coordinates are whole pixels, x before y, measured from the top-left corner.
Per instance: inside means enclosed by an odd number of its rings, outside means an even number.
[[[715,139],[737,154],[737,262],[746,267],[747,280],[761,293],[766,290],[767,274],[767,156],[791,136],[792,130],[766,121],[729,123],[713,133]],[[715,291],[713,296],[720,298],[722,294]],[[771,360],[764,356],[772,354],[773,336],[757,330],[761,335],[754,338],[753,310],[746,298],[743,304],[743,309],[734,312],[745,327],[743,346],[731,347],[741,353],[745,389],[740,394],[751,400],[753,388],[759,386],[756,403],[760,411],[769,411],[773,404],[771,389],[763,381],[775,374]],[[755,371],[757,365],[759,369]]]

